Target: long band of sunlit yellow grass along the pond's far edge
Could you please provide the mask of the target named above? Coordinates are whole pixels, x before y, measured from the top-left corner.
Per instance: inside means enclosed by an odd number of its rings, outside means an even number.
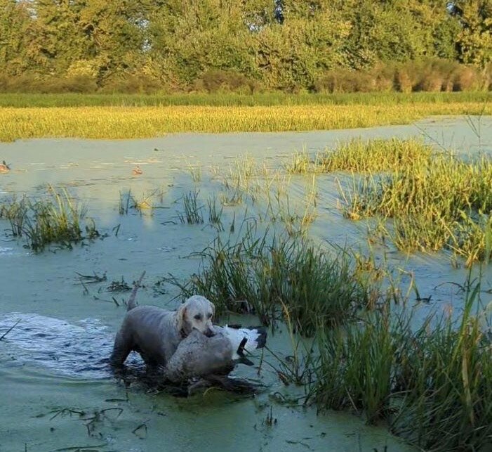
[[[0,141],[149,138],[177,132],[305,131],[409,124],[431,115],[491,115],[492,103],[1,108]]]

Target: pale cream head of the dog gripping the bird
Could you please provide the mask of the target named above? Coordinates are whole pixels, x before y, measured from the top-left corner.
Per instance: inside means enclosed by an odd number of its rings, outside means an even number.
[[[188,298],[176,312],[178,329],[187,336],[192,330],[210,337],[213,336],[212,318],[215,306],[201,295],[193,295]]]

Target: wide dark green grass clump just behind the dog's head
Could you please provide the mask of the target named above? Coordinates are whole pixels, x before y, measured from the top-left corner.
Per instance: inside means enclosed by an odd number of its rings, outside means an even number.
[[[315,319],[336,324],[375,302],[378,283],[356,271],[346,250],[333,254],[320,250],[299,235],[258,234],[248,227],[236,241],[220,236],[199,255],[201,270],[185,283],[169,278],[182,296],[199,293],[215,303],[218,315],[225,311],[253,312],[265,324],[288,309],[295,328],[307,335]]]

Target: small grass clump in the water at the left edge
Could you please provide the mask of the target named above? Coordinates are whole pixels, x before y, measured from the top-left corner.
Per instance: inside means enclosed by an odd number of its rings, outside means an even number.
[[[84,238],[98,237],[93,219],[86,218],[86,209],[79,206],[69,193],[48,187],[49,198],[32,199],[24,196],[0,206],[0,219],[11,224],[14,237],[25,238],[27,247],[41,252],[51,243],[71,248]],[[85,219],[84,235],[81,221]]]

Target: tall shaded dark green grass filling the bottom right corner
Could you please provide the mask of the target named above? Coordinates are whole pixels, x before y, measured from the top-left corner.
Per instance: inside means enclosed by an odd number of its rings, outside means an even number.
[[[424,450],[488,450],[492,345],[484,313],[472,315],[480,283],[465,287],[456,320],[431,314],[415,327],[406,304],[397,310],[387,303],[360,323],[330,329],[320,322],[319,407],[364,413],[368,422],[385,419],[392,432]]]

